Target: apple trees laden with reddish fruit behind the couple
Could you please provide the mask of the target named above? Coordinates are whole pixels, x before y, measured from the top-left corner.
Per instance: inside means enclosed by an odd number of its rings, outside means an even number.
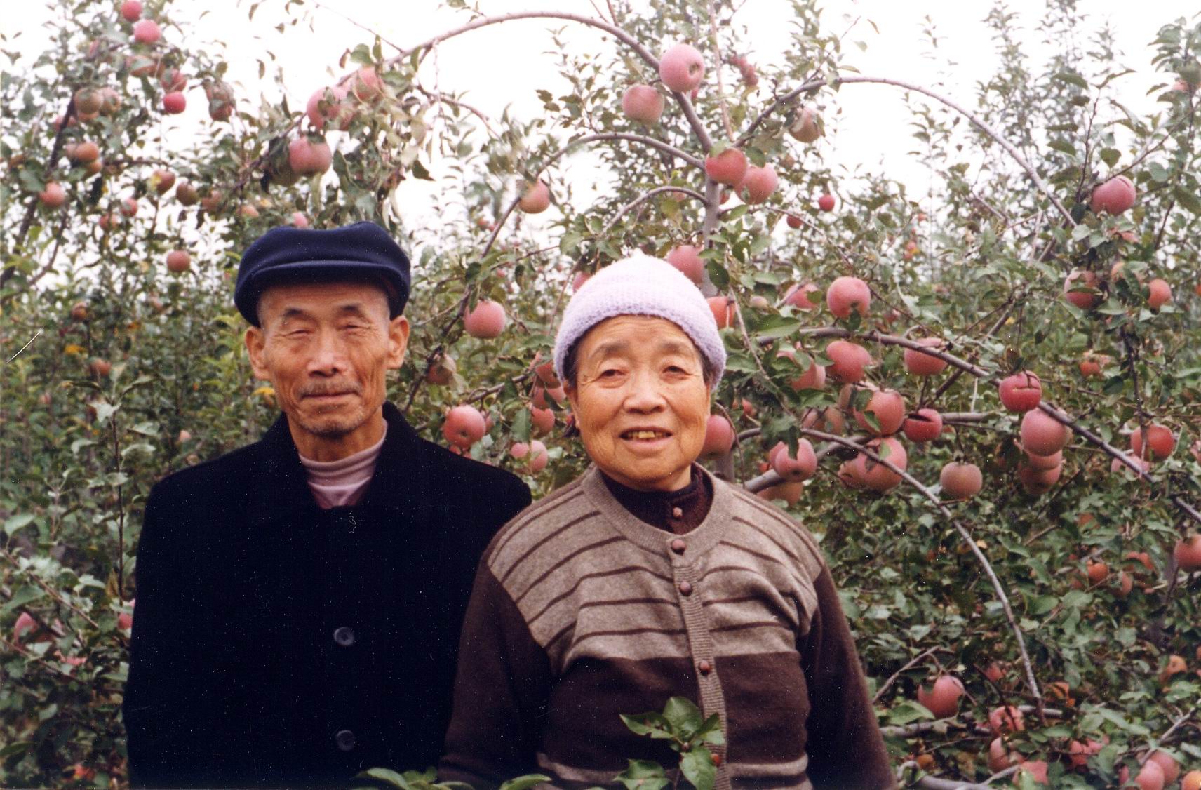
[[[50,48],[0,74],[0,784],[125,782],[147,492],[277,413],[241,351],[238,256],[276,225],[362,219],[414,259],[392,399],[443,443],[450,408],[478,409],[456,447],[536,493],[586,466],[544,366],[573,287],[635,250],[689,267],[729,323],[713,409],[737,441],[711,463],[819,537],[906,780],[1028,760],[1023,784],[1107,786],[1153,772],[1152,749],[1201,767],[1201,24],[1165,20],[1137,53],[1161,77],[1139,115],[1106,30],[1035,64],[1002,4],[974,96],[859,74],[813,2],[775,61],[730,4],[651,5],[465,12],[283,96],[262,72],[229,84],[169,0],[56,0]],[[524,17],[605,32],[594,52],[546,34],[568,88],[522,84],[540,115],[426,84],[440,41]],[[1038,23],[1082,24],[1066,0]],[[704,61],[689,95],[659,79],[681,43]],[[908,102],[930,194],[825,162],[865,83]],[[179,128],[180,100],[210,120]],[[580,155],[608,181],[592,202],[564,168]],[[438,182],[438,227],[400,216],[413,179]],[[1018,373],[1027,402],[1003,405]]]

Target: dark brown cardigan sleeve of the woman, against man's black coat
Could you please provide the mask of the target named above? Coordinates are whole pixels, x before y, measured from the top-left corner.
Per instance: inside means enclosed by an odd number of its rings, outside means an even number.
[[[550,660],[508,591],[482,562],[459,642],[441,782],[477,790],[537,773]]]

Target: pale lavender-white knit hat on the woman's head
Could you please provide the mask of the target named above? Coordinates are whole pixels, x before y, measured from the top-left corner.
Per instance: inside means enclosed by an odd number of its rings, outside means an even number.
[[[567,352],[598,323],[614,316],[657,316],[683,330],[716,371],[713,387],[725,370],[725,345],[717,321],[700,289],[667,261],[645,255],[623,258],[592,275],[563,311],[555,336],[555,372],[567,377]]]

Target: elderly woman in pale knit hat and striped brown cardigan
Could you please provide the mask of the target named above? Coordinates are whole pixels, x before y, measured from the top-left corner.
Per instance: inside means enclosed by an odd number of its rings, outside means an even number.
[[[721,717],[718,788],[894,786],[821,551],[695,462],[724,366],[705,299],[670,264],[620,261],[572,299],[555,369],[593,466],[484,553],[442,780],[671,770],[620,714],[687,696]]]

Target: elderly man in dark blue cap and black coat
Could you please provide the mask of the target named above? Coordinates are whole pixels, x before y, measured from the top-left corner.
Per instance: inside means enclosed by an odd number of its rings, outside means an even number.
[[[478,558],[530,503],[386,402],[408,259],[383,228],[275,228],[234,303],[283,414],[150,492],[124,716],[147,786],[345,786],[437,761]]]

